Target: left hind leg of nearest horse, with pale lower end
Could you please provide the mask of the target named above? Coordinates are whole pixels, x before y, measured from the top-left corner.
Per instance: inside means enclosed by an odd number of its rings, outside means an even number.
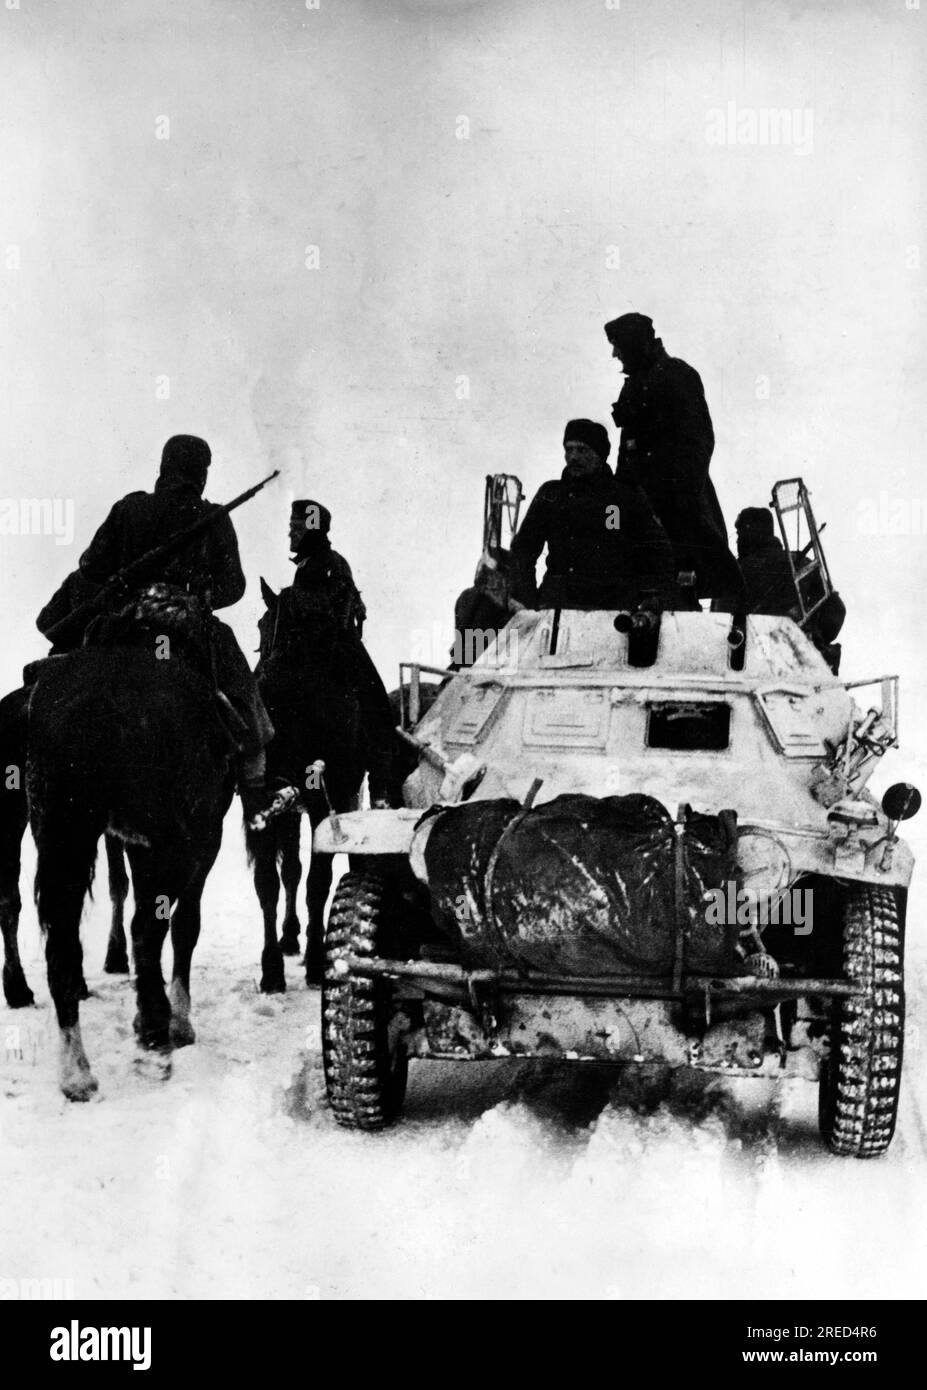
[[[36,902],[44,927],[49,990],[60,1029],[60,1083],[69,1101],[88,1101],[97,1090],[81,1040],[79,1001],[83,990],[81,913],[93,876],[99,830],[58,823],[36,833]]]

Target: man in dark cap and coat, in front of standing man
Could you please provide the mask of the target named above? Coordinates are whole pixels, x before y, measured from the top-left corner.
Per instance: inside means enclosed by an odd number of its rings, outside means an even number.
[[[511,592],[525,607],[659,610],[673,589],[673,552],[641,488],[609,467],[603,425],[571,420],[566,467],[534,498],[511,543]],[[536,588],[535,567],[548,546]]]

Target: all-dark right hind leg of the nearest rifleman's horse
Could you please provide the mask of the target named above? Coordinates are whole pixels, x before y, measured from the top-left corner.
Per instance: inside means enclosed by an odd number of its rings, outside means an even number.
[[[135,892],[132,954],[135,956],[135,1034],[149,1052],[167,1052],[171,1045],[171,1005],[164,991],[161,951],[170,926],[177,873],[165,853],[142,845],[128,847]]]

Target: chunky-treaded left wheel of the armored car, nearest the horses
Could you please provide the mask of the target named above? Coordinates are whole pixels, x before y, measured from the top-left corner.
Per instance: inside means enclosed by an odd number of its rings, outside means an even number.
[[[377,1130],[399,1116],[409,1058],[388,980],[343,973],[347,955],[375,956],[395,937],[397,894],[377,872],[346,873],[325,933],[322,1061],[335,1119],[346,1129]]]

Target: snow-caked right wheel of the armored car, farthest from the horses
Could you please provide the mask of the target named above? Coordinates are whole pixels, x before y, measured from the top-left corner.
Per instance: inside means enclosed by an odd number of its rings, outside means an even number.
[[[877,1158],[895,1133],[905,1031],[903,922],[892,888],[859,884],[844,906],[844,972],[863,994],[834,1002],[819,1093],[834,1154]]]

